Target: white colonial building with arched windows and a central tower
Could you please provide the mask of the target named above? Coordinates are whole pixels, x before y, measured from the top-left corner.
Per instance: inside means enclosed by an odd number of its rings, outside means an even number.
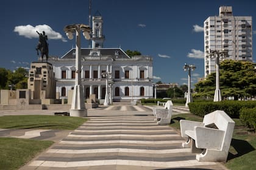
[[[105,37],[102,35],[102,24],[101,15],[93,16],[91,48],[81,49],[84,97],[96,94],[98,99],[105,98],[104,73],[107,72],[107,92],[113,97],[113,101],[152,98],[152,57],[128,56],[120,48],[103,48]],[[59,98],[67,98],[68,91],[74,87],[75,58],[76,49],[71,49],[61,58],[48,60],[54,69]]]

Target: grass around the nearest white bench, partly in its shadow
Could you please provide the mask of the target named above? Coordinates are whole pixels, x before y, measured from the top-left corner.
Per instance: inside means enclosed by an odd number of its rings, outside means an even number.
[[[180,129],[179,120],[202,121],[203,118],[193,114],[172,115],[170,126]],[[229,149],[227,162],[224,164],[232,170],[255,169],[256,167],[256,134],[251,132],[246,126],[243,126],[239,119],[235,121],[235,129]]]

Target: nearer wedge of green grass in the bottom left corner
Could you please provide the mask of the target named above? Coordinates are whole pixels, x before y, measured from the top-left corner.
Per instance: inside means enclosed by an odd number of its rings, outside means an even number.
[[[18,169],[53,143],[53,141],[0,138],[0,169]]]

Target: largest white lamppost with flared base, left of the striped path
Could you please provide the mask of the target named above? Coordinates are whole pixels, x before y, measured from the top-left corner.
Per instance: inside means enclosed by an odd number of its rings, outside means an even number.
[[[71,103],[71,109],[69,115],[71,117],[87,117],[87,110],[85,109],[84,92],[81,82],[81,44],[80,44],[80,32],[83,32],[85,39],[90,39],[91,29],[85,24],[73,24],[64,27],[64,32],[68,39],[73,39],[73,33],[76,33],[76,80],[73,90],[73,100]]]

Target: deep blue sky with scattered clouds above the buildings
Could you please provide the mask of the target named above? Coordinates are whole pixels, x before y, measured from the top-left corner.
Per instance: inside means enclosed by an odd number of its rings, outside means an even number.
[[[92,15],[99,10],[103,19],[104,47],[138,50],[153,57],[154,82],[187,84],[184,63],[194,64],[192,84],[204,77],[204,32],[208,16],[219,13],[219,6],[230,5],[235,16],[252,16],[255,47],[256,1],[146,1],[92,0]],[[48,35],[49,55],[62,56],[75,45],[66,38],[63,27],[88,24],[88,0],[26,0],[1,2],[0,67],[14,70],[37,61],[37,29]],[[82,47],[88,41],[82,39]],[[255,55],[254,61],[255,61]]]

